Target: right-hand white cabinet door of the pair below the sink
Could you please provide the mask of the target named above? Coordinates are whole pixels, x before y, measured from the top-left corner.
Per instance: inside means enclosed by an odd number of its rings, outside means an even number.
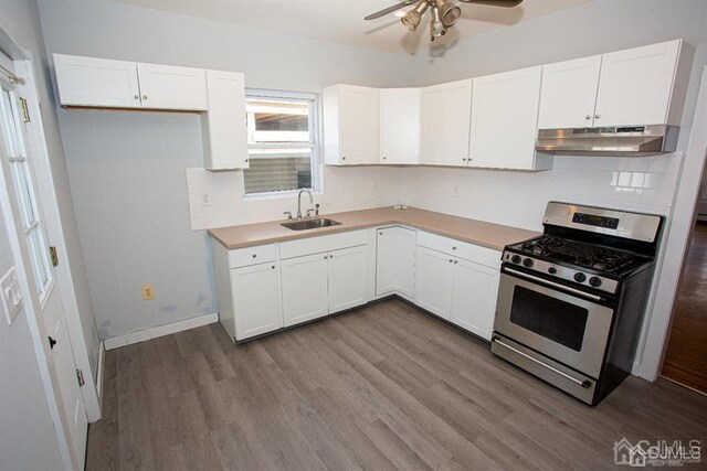
[[[366,303],[368,247],[329,253],[329,313]]]

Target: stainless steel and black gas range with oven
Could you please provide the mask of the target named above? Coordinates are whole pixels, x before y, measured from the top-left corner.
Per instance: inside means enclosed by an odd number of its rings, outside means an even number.
[[[631,373],[663,216],[550,202],[506,246],[490,350],[590,405]]]

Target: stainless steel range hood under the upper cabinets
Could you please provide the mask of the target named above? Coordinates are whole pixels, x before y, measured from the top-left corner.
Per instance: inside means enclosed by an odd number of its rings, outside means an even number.
[[[677,126],[540,129],[535,150],[545,153],[641,157],[673,152]]]

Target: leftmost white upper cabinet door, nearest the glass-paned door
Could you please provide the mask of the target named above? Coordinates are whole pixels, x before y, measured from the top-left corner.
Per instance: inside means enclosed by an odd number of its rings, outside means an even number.
[[[54,68],[64,106],[140,107],[135,62],[54,54]]]

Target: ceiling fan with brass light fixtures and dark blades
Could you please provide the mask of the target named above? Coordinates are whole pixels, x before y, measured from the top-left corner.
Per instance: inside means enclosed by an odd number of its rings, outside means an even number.
[[[475,3],[487,4],[492,7],[516,7],[523,0],[460,0],[462,3]],[[384,17],[388,13],[400,10],[409,4],[415,4],[412,10],[408,11],[400,22],[405,25],[410,31],[415,31],[422,21],[422,17],[429,10],[431,12],[430,19],[430,41],[434,41],[435,38],[446,34],[447,28],[452,28],[456,20],[462,15],[462,9],[456,4],[449,2],[447,0],[403,0],[391,7],[384,8],[381,11],[369,14],[363,20],[374,20],[380,17]]]

